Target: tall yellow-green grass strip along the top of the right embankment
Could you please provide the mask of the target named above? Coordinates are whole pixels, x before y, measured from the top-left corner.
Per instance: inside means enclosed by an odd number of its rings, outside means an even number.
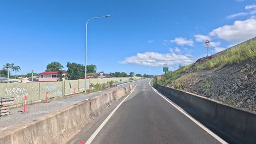
[[[221,68],[228,64],[241,63],[256,59],[256,40],[237,45],[223,51],[219,56],[196,67],[196,70]]]

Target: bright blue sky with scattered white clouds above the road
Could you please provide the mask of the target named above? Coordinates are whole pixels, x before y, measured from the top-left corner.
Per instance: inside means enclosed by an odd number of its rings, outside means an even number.
[[[256,1],[0,1],[0,65],[17,74],[50,62],[85,62],[105,73],[160,75],[256,36]],[[14,74],[14,73],[13,73]]]

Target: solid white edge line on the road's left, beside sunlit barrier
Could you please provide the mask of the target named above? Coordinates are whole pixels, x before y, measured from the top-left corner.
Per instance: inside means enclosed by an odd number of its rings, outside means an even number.
[[[138,84],[137,84],[138,85]],[[137,86],[136,85],[136,86]],[[108,115],[108,117],[102,122],[102,124],[100,125],[100,127],[98,127],[94,133],[91,135],[91,137],[85,142],[85,144],[90,144],[95,137],[98,135],[98,133],[100,133],[101,129],[104,127],[104,125],[108,122],[108,120],[110,119],[110,117],[112,117],[112,115],[115,113],[115,111],[117,111],[118,107],[124,103],[124,101],[132,94],[132,92],[134,91],[134,89],[136,88],[136,86],[132,89],[131,93],[129,95],[127,95],[127,97],[121,101],[121,103],[115,107],[115,109]]]

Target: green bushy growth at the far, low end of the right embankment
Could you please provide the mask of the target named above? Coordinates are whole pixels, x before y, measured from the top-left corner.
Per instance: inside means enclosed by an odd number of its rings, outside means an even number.
[[[169,83],[173,82],[174,80],[177,80],[179,77],[182,76],[182,74],[191,67],[192,64],[189,64],[187,66],[181,67],[175,71],[170,71],[164,75],[161,76],[161,79],[159,80],[160,85],[167,86]]]

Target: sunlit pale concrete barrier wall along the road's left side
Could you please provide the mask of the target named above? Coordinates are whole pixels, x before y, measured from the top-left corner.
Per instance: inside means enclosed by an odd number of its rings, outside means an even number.
[[[0,143],[66,143],[108,105],[129,93],[132,87],[84,100],[33,122],[3,131]]]

